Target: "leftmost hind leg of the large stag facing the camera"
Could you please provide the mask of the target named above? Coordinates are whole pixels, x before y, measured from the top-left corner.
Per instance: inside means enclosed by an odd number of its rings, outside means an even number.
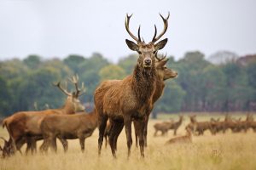
[[[103,142],[103,137],[104,137],[107,121],[108,121],[108,116],[106,116],[106,115],[99,116],[98,156],[101,156],[102,142]]]

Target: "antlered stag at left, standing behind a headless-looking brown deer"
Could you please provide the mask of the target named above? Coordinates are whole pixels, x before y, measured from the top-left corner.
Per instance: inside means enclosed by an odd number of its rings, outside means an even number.
[[[84,105],[79,101],[79,96],[84,93],[83,87],[79,88],[79,77],[69,78],[75,85],[76,91],[69,93],[67,89],[61,87],[61,82],[55,84],[55,86],[61,89],[61,92],[67,95],[65,105],[60,109],[50,109],[45,111],[20,111],[12,116],[3,120],[3,127],[7,127],[9,132],[9,140],[14,147],[14,150],[20,150],[23,144],[27,144],[26,153],[32,150],[32,153],[36,151],[36,142],[39,139],[43,139],[42,131],[40,129],[40,123],[44,116],[59,114],[69,115],[74,114],[77,111],[84,111]],[[64,150],[67,150],[67,140],[62,140]]]

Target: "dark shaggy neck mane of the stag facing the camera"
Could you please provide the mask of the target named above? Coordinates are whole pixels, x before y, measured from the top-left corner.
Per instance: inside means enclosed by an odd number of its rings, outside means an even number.
[[[156,71],[152,69],[143,69],[139,65],[135,66],[133,71],[131,88],[134,90],[137,101],[141,104],[146,103],[155,90]]]

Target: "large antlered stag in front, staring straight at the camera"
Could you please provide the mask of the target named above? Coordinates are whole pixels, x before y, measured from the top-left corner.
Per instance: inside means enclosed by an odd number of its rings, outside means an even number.
[[[161,16],[162,17],[162,16]],[[167,19],[164,20],[165,28],[156,37],[156,27],[154,38],[151,42],[145,43],[140,37],[140,28],[138,37],[134,36],[129,30],[131,16],[126,16],[125,28],[130,36],[137,42],[125,40],[128,47],[137,51],[139,58],[133,73],[123,80],[104,81],[95,91],[94,101],[99,122],[98,155],[101,155],[102,141],[108,118],[111,120],[112,129],[109,135],[109,144],[113,157],[116,157],[116,144],[119,133],[125,125],[127,139],[128,156],[131,155],[131,122],[138,121],[138,136],[141,156],[144,156],[144,127],[148,111],[152,110],[152,98],[156,88],[156,69],[155,56],[161,48],[164,48],[167,38],[157,42],[167,29]],[[154,44],[157,42],[156,44]]]

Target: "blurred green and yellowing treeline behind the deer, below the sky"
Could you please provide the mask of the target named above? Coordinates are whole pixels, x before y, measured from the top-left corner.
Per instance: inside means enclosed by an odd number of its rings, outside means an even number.
[[[226,58],[234,56],[233,58]],[[216,62],[216,60],[222,60]],[[179,111],[256,111],[256,55],[238,57],[220,52],[205,59],[199,51],[189,52],[182,59],[169,56],[168,67],[178,77],[166,81],[163,96],[154,105],[154,113]],[[69,55],[65,59],[43,59],[30,55],[26,59],[0,62],[0,116],[15,111],[59,108],[66,96],[52,82],[79,75],[86,93],[84,105],[93,105],[96,86],[105,79],[122,79],[131,74],[137,54],[110,63],[102,54],[90,57]],[[216,64],[217,63],[217,64]],[[67,83],[68,90],[74,89]],[[90,107],[90,109],[91,109]]]

